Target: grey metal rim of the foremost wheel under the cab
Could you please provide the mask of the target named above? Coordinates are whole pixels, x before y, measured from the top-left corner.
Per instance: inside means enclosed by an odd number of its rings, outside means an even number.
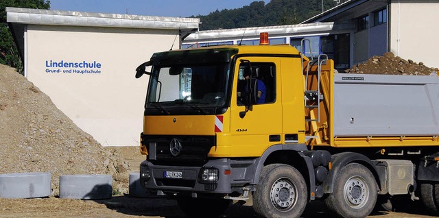
[[[270,199],[274,208],[287,211],[296,204],[296,193],[296,186],[291,180],[288,178],[280,178],[272,185]]]

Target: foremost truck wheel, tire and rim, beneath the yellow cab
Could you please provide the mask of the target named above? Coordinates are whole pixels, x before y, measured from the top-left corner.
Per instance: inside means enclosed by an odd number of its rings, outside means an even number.
[[[268,165],[253,195],[253,208],[263,217],[300,217],[307,206],[307,185],[289,165]]]

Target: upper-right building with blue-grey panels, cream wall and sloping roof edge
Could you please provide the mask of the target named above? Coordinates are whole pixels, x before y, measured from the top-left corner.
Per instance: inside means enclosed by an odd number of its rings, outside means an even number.
[[[333,22],[354,26],[353,64],[391,51],[395,56],[438,67],[438,0],[351,0],[302,23]],[[435,49],[436,48],[436,49]]]

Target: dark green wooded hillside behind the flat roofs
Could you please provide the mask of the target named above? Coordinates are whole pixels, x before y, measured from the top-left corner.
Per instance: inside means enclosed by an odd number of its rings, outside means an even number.
[[[335,4],[333,0],[323,0],[324,10]],[[209,30],[298,24],[321,12],[322,0],[271,0],[266,5],[264,1],[253,1],[243,8],[192,17],[201,20],[200,30]]]

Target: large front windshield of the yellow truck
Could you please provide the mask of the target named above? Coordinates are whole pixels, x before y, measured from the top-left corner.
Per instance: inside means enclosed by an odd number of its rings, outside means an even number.
[[[153,66],[145,114],[220,114],[228,78],[228,62]]]

